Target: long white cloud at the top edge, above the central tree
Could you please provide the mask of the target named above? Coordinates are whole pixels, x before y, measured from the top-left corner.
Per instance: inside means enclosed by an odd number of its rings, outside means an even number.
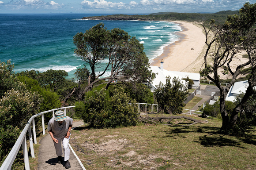
[[[105,1],[105,0],[94,0],[89,1],[89,0],[84,0],[82,3],[83,7],[90,7],[90,8],[123,8],[125,7],[125,4],[122,2],[111,2],[111,1]]]

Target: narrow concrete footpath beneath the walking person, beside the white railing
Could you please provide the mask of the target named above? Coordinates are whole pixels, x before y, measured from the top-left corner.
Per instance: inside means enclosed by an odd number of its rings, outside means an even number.
[[[73,128],[83,124],[82,121],[74,122]],[[71,138],[72,140],[72,131]],[[62,160],[64,160],[64,155],[62,155]],[[64,161],[63,161],[64,162]],[[70,149],[69,162],[71,168],[69,170],[85,170],[76,159],[75,155]],[[38,170],[64,170],[65,164],[57,163],[57,156],[53,144],[53,140],[49,134],[40,140],[39,153],[38,153]]]

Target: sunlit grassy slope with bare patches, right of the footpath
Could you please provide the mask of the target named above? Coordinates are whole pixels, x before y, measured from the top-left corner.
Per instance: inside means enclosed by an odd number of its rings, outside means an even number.
[[[206,120],[203,118],[196,118]],[[70,143],[88,170],[256,169],[256,136],[215,134],[219,119],[190,127],[140,124],[73,131]],[[189,123],[177,119],[173,123]],[[95,143],[95,139],[99,139]]]

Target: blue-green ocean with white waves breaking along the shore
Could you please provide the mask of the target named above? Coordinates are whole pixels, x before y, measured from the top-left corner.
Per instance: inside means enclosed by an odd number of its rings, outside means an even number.
[[[81,19],[100,15],[104,14],[0,14],[0,61],[11,60],[15,72],[61,69],[72,78],[85,64],[74,54],[73,36],[99,22],[108,30],[120,28],[136,36],[150,60],[179,39],[175,33],[181,27],[173,22]]]

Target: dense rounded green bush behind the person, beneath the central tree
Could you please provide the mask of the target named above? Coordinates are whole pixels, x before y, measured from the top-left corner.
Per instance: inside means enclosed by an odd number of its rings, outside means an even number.
[[[115,128],[135,126],[137,107],[123,89],[92,90],[87,92],[84,101],[77,102],[75,114],[94,128]]]

